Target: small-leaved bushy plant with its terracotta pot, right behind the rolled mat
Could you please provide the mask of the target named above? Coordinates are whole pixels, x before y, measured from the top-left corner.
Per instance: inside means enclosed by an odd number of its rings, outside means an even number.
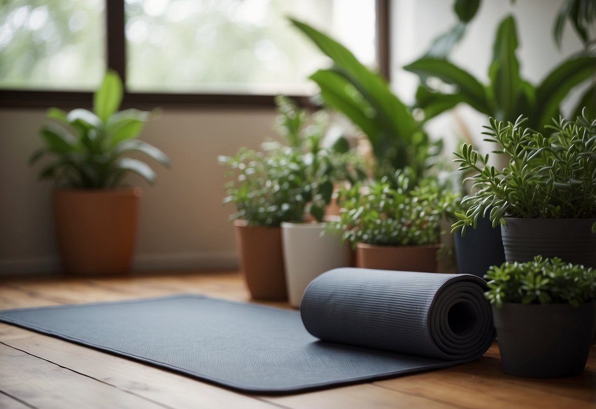
[[[455,196],[424,178],[414,187],[408,171],[340,193],[340,220],[328,231],[356,249],[356,267],[437,271],[440,220]]]

